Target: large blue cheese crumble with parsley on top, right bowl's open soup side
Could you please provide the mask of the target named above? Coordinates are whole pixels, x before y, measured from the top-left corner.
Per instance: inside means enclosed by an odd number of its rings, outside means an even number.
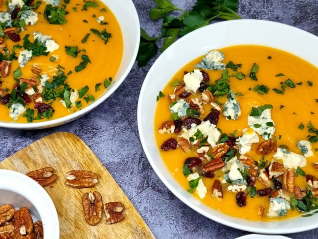
[[[249,116],[248,124],[264,140],[271,139],[275,132],[275,123],[271,116],[271,109],[264,110],[260,116]]]

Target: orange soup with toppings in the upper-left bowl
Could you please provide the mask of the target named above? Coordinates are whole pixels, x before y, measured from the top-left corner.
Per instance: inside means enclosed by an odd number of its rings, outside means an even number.
[[[0,120],[44,121],[83,109],[112,83],[122,54],[120,26],[100,0],[3,2]]]

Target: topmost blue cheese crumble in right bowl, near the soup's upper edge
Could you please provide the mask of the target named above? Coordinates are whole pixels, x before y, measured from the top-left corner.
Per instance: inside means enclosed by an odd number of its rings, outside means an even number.
[[[196,68],[204,70],[224,70],[226,65],[222,62],[224,54],[221,51],[211,50],[200,63],[195,65]]]

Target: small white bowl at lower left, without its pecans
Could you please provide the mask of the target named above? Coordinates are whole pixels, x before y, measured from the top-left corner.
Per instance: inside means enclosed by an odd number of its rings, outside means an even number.
[[[59,239],[59,218],[50,196],[33,179],[22,173],[0,169],[0,205],[26,207],[33,221],[41,220],[45,239]]]

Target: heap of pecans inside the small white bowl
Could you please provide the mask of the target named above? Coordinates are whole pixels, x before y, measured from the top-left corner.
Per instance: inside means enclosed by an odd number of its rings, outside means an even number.
[[[0,206],[0,239],[43,239],[42,222],[33,222],[26,207],[16,210],[10,204],[3,204]]]

